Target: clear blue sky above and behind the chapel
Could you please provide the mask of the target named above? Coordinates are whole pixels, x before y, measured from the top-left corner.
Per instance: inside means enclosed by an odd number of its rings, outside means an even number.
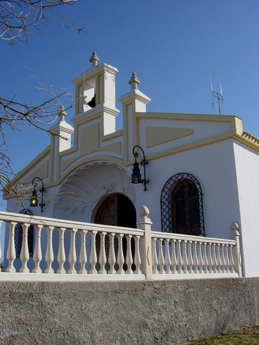
[[[242,117],[244,130],[259,137],[258,0],[80,0],[61,12],[86,35],[50,22],[31,37],[30,46],[12,48],[0,41],[2,97],[41,101],[25,66],[46,86],[74,94],[70,81],[90,68],[95,50],[100,63],[119,69],[117,98],[130,90],[128,80],[137,73],[140,90],[151,98],[148,111],[218,114],[209,73],[215,91],[220,78],[222,113]],[[71,117],[73,110],[68,121]],[[30,126],[7,135],[15,172],[50,143],[48,134]]]

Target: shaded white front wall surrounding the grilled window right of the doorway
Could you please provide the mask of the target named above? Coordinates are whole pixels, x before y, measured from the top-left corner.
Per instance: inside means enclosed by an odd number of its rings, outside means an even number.
[[[153,230],[161,230],[160,195],[166,181],[179,172],[194,175],[204,193],[204,223],[208,237],[231,238],[231,224],[240,221],[236,170],[231,140],[202,146],[148,162],[148,190],[136,185],[136,208],[150,210]]]

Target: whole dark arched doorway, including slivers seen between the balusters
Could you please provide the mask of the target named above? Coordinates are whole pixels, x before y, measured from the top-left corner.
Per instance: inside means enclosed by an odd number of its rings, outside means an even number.
[[[122,194],[114,194],[107,197],[102,204],[98,207],[97,212],[95,213],[95,223],[110,225],[110,226],[124,226],[126,228],[136,228],[136,210],[135,206],[131,202],[131,199]],[[115,245],[115,256],[117,258],[118,252],[118,242],[117,237],[114,240]],[[126,237],[122,238],[122,246],[124,259],[126,258]],[[110,248],[110,239],[108,235],[105,237],[105,251],[106,258],[108,259]],[[100,250],[100,237],[96,237],[96,250],[97,257],[99,257]],[[131,250],[132,256],[135,255],[135,240],[131,239]],[[99,269],[99,262],[97,263],[97,270]],[[110,265],[106,263],[105,269],[108,271]],[[117,264],[115,264],[115,269],[117,269]],[[127,269],[126,264],[124,264],[124,270]],[[135,270],[135,264],[132,265],[132,269]]]

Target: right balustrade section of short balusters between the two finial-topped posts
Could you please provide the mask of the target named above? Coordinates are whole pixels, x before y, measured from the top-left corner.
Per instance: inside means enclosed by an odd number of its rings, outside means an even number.
[[[153,279],[238,276],[233,268],[232,240],[178,234],[163,234],[157,239],[153,231],[152,243]]]

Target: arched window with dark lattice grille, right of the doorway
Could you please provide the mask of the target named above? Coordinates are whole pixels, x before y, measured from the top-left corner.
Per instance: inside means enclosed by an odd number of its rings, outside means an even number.
[[[162,231],[185,235],[205,235],[202,188],[193,175],[174,175],[161,193]]]

